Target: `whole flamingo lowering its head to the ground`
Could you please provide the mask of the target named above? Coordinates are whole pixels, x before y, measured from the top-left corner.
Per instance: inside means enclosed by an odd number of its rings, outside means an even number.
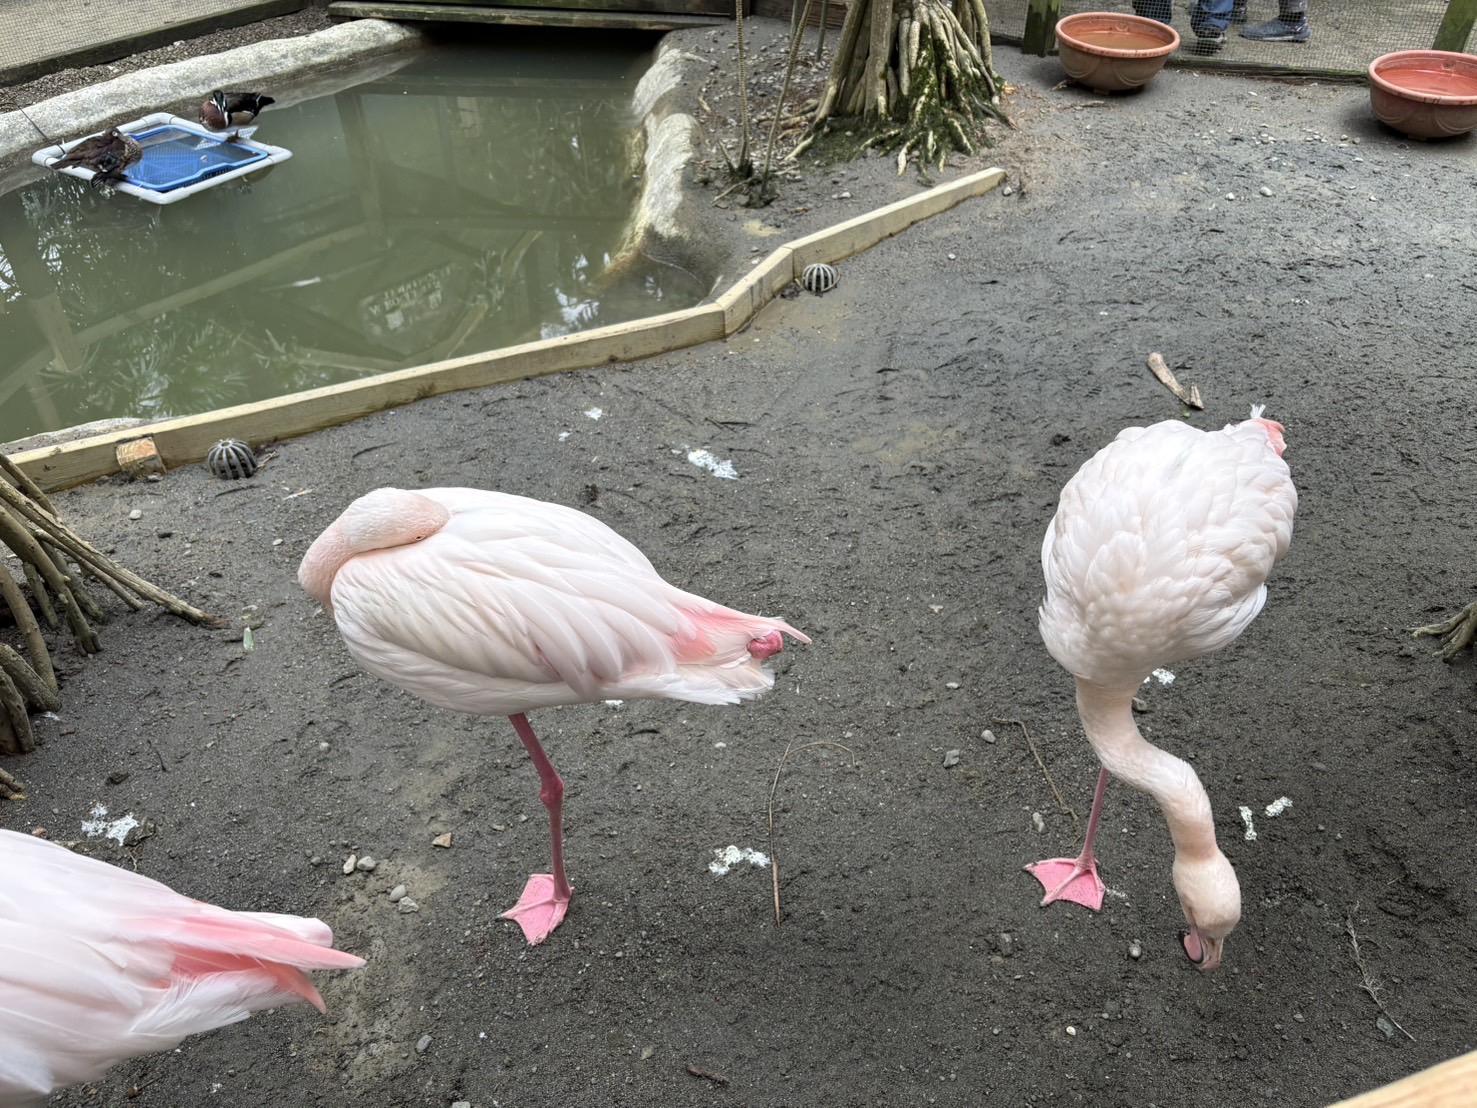
[[[1204,786],[1139,734],[1133,694],[1155,669],[1230,643],[1267,600],[1267,575],[1292,541],[1297,490],[1282,425],[1260,417],[1254,408],[1210,433],[1173,420],[1124,430],[1062,489],[1041,544],[1041,638],[1077,678],[1077,711],[1102,771],[1081,854],[1027,869],[1046,889],[1043,907],[1102,907],[1093,841],[1108,774],[1118,774],[1164,810],[1189,922],[1185,953],[1207,971],[1241,920],[1241,886],[1216,845]]]

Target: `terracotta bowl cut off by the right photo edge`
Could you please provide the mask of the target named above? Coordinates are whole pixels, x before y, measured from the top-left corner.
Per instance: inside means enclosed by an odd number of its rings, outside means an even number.
[[[1477,129],[1477,58],[1399,50],[1369,62],[1369,103],[1412,139],[1450,139]]]

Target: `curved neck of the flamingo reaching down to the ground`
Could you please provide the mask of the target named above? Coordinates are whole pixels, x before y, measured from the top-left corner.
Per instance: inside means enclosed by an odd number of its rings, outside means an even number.
[[[1133,719],[1133,687],[1106,688],[1077,678],[1077,711],[1087,742],[1108,773],[1159,802],[1170,824],[1176,861],[1202,861],[1219,855],[1205,786],[1189,762],[1139,734]]]

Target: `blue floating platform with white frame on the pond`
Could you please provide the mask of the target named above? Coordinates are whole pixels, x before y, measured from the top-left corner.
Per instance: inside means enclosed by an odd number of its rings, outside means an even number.
[[[230,131],[208,131],[198,123],[168,112],[145,115],[142,120],[120,124],[118,130],[139,140],[143,157],[124,170],[121,182],[111,182],[112,188],[151,204],[174,204],[292,157],[292,151],[282,146],[269,146],[250,137],[230,139]],[[90,137],[93,136],[87,134],[46,146],[32,154],[31,161],[49,167]],[[93,170],[84,165],[68,165],[58,173],[87,182],[95,176]]]

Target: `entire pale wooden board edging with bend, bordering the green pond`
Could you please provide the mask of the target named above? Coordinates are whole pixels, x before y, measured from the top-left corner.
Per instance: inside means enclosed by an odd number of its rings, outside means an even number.
[[[815,261],[836,263],[877,245],[914,223],[982,196],[1004,180],[1001,168],[982,170],[939,185],[916,196],[837,223],[827,230],[780,247],[755,264],[747,275],[715,301],[685,312],[635,319],[573,335],[524,343],[502,350],[431,362],[414,369],[362,377],[306,393],[222,408],[204,415],[142,424],[55,446],[22,451],[10,456],[43,489],[65,489],[121,468],[118,451],[139,439],[151,439],[167,467],[196,462],[219,439],[251,443],[292,439],[321,431],[363,415],[399,408],[442,393],[483,389],[569,369],[592,369],[609,362],[681,350],[699,343],[727,338],[749,324],[805,267]]]

